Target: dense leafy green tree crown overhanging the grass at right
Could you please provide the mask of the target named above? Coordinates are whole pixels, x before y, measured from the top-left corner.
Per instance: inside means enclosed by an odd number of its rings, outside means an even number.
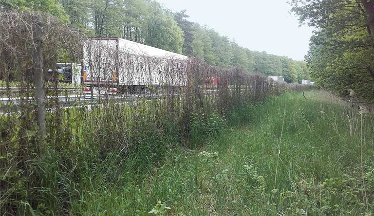
[[[366,0],[365,0],[366,1]],[[361,100],[373,100],[373,26],[364,0],[292,0],[300,23],[316,26],[306,61],[316,85],[348,96],[353,89]],[[373,2],[370,2],[372,5]]]

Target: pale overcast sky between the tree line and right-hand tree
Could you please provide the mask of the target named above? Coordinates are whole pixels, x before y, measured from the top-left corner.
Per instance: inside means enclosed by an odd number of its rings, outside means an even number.
[[[287,0],[157,0],[172,11],[186,9],[191,22],[216,30],[240,46],[303,60],[312,27],[299,27]]]

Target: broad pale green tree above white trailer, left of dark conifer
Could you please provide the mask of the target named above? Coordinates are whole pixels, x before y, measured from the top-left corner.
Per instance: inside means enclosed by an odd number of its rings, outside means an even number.
[[[122,11],[113,17],[120,36],[160,49],[182,53],[183,32],[172,14],[157,1],[124,0]],[[121,17],[122,19],[119,19]],[[115,32],[112,31],[116,35]]]

